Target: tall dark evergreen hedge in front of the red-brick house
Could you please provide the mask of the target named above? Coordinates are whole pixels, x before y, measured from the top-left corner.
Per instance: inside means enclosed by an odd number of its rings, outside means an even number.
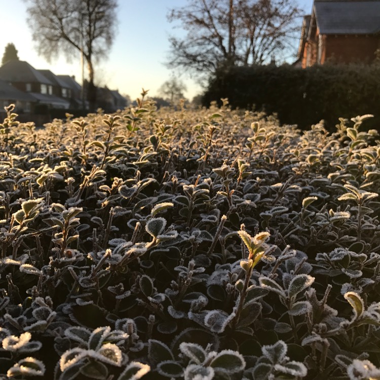
[[[211,79],[203,105],[220,98],[233,108],[276,112],[281,123],[302,129],[323,119],[334,130],[338,118],[366,113],[375,115],[367,127],[379,129],[380,66],[234,67]]]

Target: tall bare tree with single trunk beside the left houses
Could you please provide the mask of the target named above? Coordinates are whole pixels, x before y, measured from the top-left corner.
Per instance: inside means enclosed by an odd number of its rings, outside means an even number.
[[[37,51],[48,61],[64,54],[71,61],[83,52],[87,63],[88,100],[94,109],[94,62],[109,52],[116,33],[117,0],[26,0],[28,23]],[[74,48],[74,49],[73,49]]]

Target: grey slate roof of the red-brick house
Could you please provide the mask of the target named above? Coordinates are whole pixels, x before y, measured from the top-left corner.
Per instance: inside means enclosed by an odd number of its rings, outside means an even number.
[[[378,0],[315,0],[320,34],[374,34],[380,31]]]

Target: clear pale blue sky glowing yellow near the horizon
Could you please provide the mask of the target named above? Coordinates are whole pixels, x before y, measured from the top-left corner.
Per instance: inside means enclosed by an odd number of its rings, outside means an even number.
[[[25,0],[0,0],[1,57],[6,45],[13,43],[19,59],[35,69],[75,75],[77,82],[81,83],[80,52],[71,63],[67,63],[63,55],[51,63],[37,55],[26,22],[27,3]],[[165,65],[170,49],[169,35],[181,32],[168,22],[167,14],[172,8],[186,5],[187,0],[119,0],[118,3],[118,31],[107,59],[95,67],[95,84],[119,90],[132,100],[140,97],[142,88],[149,90],[149,96],[158,96],[160,86],[172,74],[179,74]],[[312,4],[313,0],[298,0],[305,14],[311,13]],[[202,93],[202,88],[189,74],[180,74],[179,78],[186,85],[184,95],[188,99]]]

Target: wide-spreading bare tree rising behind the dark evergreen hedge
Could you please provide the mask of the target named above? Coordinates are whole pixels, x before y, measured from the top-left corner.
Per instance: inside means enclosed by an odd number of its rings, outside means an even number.
[[[220,66],[267,63],[293,48],[301,11],[295,0],[189,0],[171,22],[187,31],[170,37],[170,67],[201,73]]]

